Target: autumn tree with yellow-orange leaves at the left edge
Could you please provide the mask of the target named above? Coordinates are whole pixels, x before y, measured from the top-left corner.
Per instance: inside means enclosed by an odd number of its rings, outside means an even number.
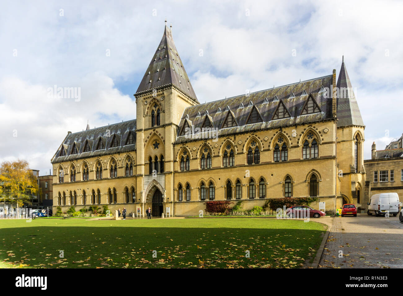
[[[11,203],[18,208],[30,205],[33,194],[39,193],[37,178],[26,160],[4,161],[0,166],[0,202]]]

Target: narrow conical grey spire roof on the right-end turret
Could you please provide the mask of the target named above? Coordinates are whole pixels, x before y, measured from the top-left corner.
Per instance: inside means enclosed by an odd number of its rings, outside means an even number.
[[[353,87],[351,86],[350,78],[347,73],[346,66],[343,61],[337,79],[337,126],[364,126],[364,121],[359,112],[357,99],[355,98]]]

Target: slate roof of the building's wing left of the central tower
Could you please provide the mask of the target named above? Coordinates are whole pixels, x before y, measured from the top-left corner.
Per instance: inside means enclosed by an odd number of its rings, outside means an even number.
[[[105,153],[118,153],[136,150],[135,142],[130,145],[125,145],[130,133],[133,136],[133,139],[136,140],[135,129],[136,120],[134,119],[98,128],[83,130],[81,132],[69,133],[53,156],[51,162],[54,163],[83,157],[93,157]],[[110,131],[110,137],[106,137],[107,130]],[[116,136],[116,139],[118,140],[119,147],[110,147],[114,136]],[[88,141],[89,147],[91,148],[91,151],[89,152],[83,152],[85,141]],[[96,150],[99,141],[102,141],[105,148]],[[71,154],[73,151],[73,144],[76,145],[78,154]],[[65,156],[59,156],[62,147],[64,147],[66,150]]]

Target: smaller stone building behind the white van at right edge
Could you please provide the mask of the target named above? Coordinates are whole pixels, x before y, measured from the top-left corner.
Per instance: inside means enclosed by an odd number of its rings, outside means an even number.
[[[367,172],[363,204],[377,193],[396,192],[403,201],[403,148],[402,137],[394,139],[384,150],[372,144],[371,159],[364,159]]]

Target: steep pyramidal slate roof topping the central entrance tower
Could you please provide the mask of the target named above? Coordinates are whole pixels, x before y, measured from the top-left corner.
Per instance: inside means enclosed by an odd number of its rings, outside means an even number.
[[[195,91],[172,39],[172,31],[165,22],[164,35],[136,93],[171,84],[176,85],[197,101]]]

